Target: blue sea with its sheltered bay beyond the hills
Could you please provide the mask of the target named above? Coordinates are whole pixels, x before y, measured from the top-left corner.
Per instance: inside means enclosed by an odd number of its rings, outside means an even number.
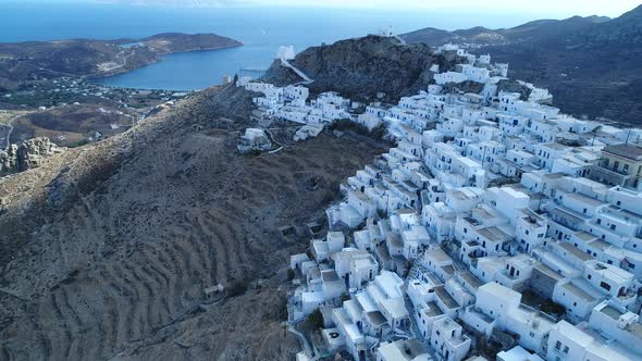
[[[400,2],[399,2],[400,3]],[[214,33],[243,47],[165,55],[158,63],[95,82],[114,87],[197,90],[221,84],[223,75],[266,70],[280,46],[310,46],[376,34],[391,27],[403,34],[423,27],[508,27],[538,14],[355,10],[308,7],[182,8],[110,2],[0,0],[0,42],[70,38],[138,39],[159,33]],[[248,71],[250,70],[250,71]]]

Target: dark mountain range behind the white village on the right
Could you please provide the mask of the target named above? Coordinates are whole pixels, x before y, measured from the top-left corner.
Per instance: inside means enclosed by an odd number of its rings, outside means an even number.
[[[507,29],[402,35],[408,42],[476,43],[474,52],[510,63],[509,76],[547,87],[575,115],[642,125],[642,5],[617,18],[539,20]]]

